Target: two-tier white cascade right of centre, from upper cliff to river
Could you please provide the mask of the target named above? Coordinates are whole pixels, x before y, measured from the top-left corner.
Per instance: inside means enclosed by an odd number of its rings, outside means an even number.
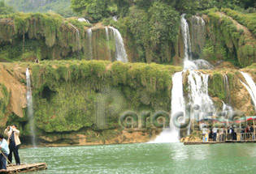
[[[163,129],[163,132],[152,142],[179,142],[180,129],[173,125],[172,117],[176,112],[185,113],[185,100],[183,94],[183,80],[182,74],[189,70],[188,85],[189,85],[189,104],[193,107],[196,104],[200,107],[199,115],[203,112],[215,112],[215,106],[213,101],[208,95],[208,74],[202,74],[194,70],[198,69],[212,69],[214,66],[210,65],[205,60],[192,61],[191,42],[189,36],[189,24],[184,19],[185,14],[181,15],[181,33],[184,43],[184,70],[178,72],[172,77],[172,89],[171,89],[171,121],[170,129]],[[193,119],[193,110],[190,109],[190,120]],[[200,116],[199,116],[200,117]],[[198,118],[199,119],[199,118]],[[184,119],[185,120],[185,119]],[[188,134],[190,133],[190,124]]]

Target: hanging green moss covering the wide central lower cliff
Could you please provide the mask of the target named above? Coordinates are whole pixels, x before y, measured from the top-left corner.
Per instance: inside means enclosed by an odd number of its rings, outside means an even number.
[[[180,66],[158,64],[61,61],[30,64],[33,70],[33,99],[37,126],[46,132],[79,130],[95,127],[99,95],[115,90],[124,99],[122,108],[115,100],[103,100],[106,129],[118,127],[120,113],[140,111],[145,106],[169,112],[171,75]],[[110,67],[111,68],[107,68]],[[110,95],[111,96],[111,95]],[[114,96],[112,96],[114,97]],[[117,104],[117,105],[116,105]]]

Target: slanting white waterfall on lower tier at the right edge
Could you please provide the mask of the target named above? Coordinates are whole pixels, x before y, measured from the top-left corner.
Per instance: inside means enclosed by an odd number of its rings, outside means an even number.
[[[240,71],[240,72],[244,76],[246,83],[248,83],[248,85],[249,85],[248,86],[241,81],[241,83],[246,87],[247,91],[249,91],[249,95],[254,102],[254,109],[256,111],[256,85],[254,83],[254,80],[249,76],[249,74],[246,74],[242,71]]]

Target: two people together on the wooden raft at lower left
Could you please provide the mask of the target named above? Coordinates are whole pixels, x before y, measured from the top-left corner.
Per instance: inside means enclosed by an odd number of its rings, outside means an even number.
[[[20,165],[19,146],[20,146],[20,130],[16,125],[8,126],[4,130],[7,135],[7,140],[0,134],[0,169],[7,169],[7,162],[10,164],[12,161],[12,154],[15,156],[16,165]]]

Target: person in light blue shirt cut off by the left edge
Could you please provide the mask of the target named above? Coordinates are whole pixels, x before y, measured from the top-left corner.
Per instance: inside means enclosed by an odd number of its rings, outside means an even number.
[[[9,154],[9,148],[7,140],[3,138],[3,134],[0,134],[0,169],[7,169],[7,156]]]

